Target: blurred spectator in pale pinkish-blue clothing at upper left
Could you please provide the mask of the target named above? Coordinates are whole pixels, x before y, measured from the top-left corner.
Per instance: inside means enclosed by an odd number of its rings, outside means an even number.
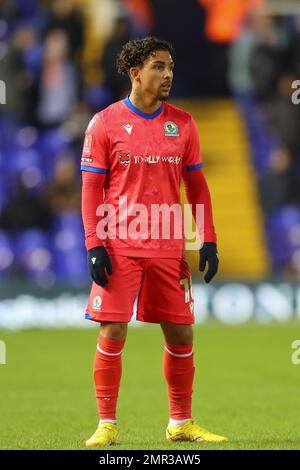
[[[50,32],[45,41],[37,110],[38,122],[44,127],[59,126],[70,116],[76,100],[77,78],[68,46],[68,38],[60,30]]]

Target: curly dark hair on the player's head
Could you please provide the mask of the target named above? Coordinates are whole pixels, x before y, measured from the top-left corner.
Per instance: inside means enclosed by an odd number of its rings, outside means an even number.
[[[168,51],[174,60],[175,52],[168,41],[148,36],[128,41],[117,57],[117,69],[121,75],[127,75],[131,67],[142,65],[156,51]]]

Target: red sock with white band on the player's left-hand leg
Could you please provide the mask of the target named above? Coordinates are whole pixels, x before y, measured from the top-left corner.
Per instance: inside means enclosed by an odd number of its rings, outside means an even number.
[[[94,383],[100,419],[116,419],[124,344],[125,340],[112,340],[101,334],[98,337]]]

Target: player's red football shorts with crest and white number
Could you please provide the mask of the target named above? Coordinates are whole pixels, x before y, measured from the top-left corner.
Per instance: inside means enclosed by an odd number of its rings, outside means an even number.
[[[184,258],[110,255],[112,274],[103,288],[93,282],[85,317],[129,322],[138,295],[137,320],[193,324],[191,273]]]

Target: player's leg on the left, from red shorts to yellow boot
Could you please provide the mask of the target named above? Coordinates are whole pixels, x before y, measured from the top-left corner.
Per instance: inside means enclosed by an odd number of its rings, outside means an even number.
[[[88,447],[112,444],[117,438],[116,408],[122,375],[122,350],[133,304],[140,287],[138,259],[111,256],[113,273],[105,288],[93,283],[86,318],[101,323],[94,359],[99,427]]]

